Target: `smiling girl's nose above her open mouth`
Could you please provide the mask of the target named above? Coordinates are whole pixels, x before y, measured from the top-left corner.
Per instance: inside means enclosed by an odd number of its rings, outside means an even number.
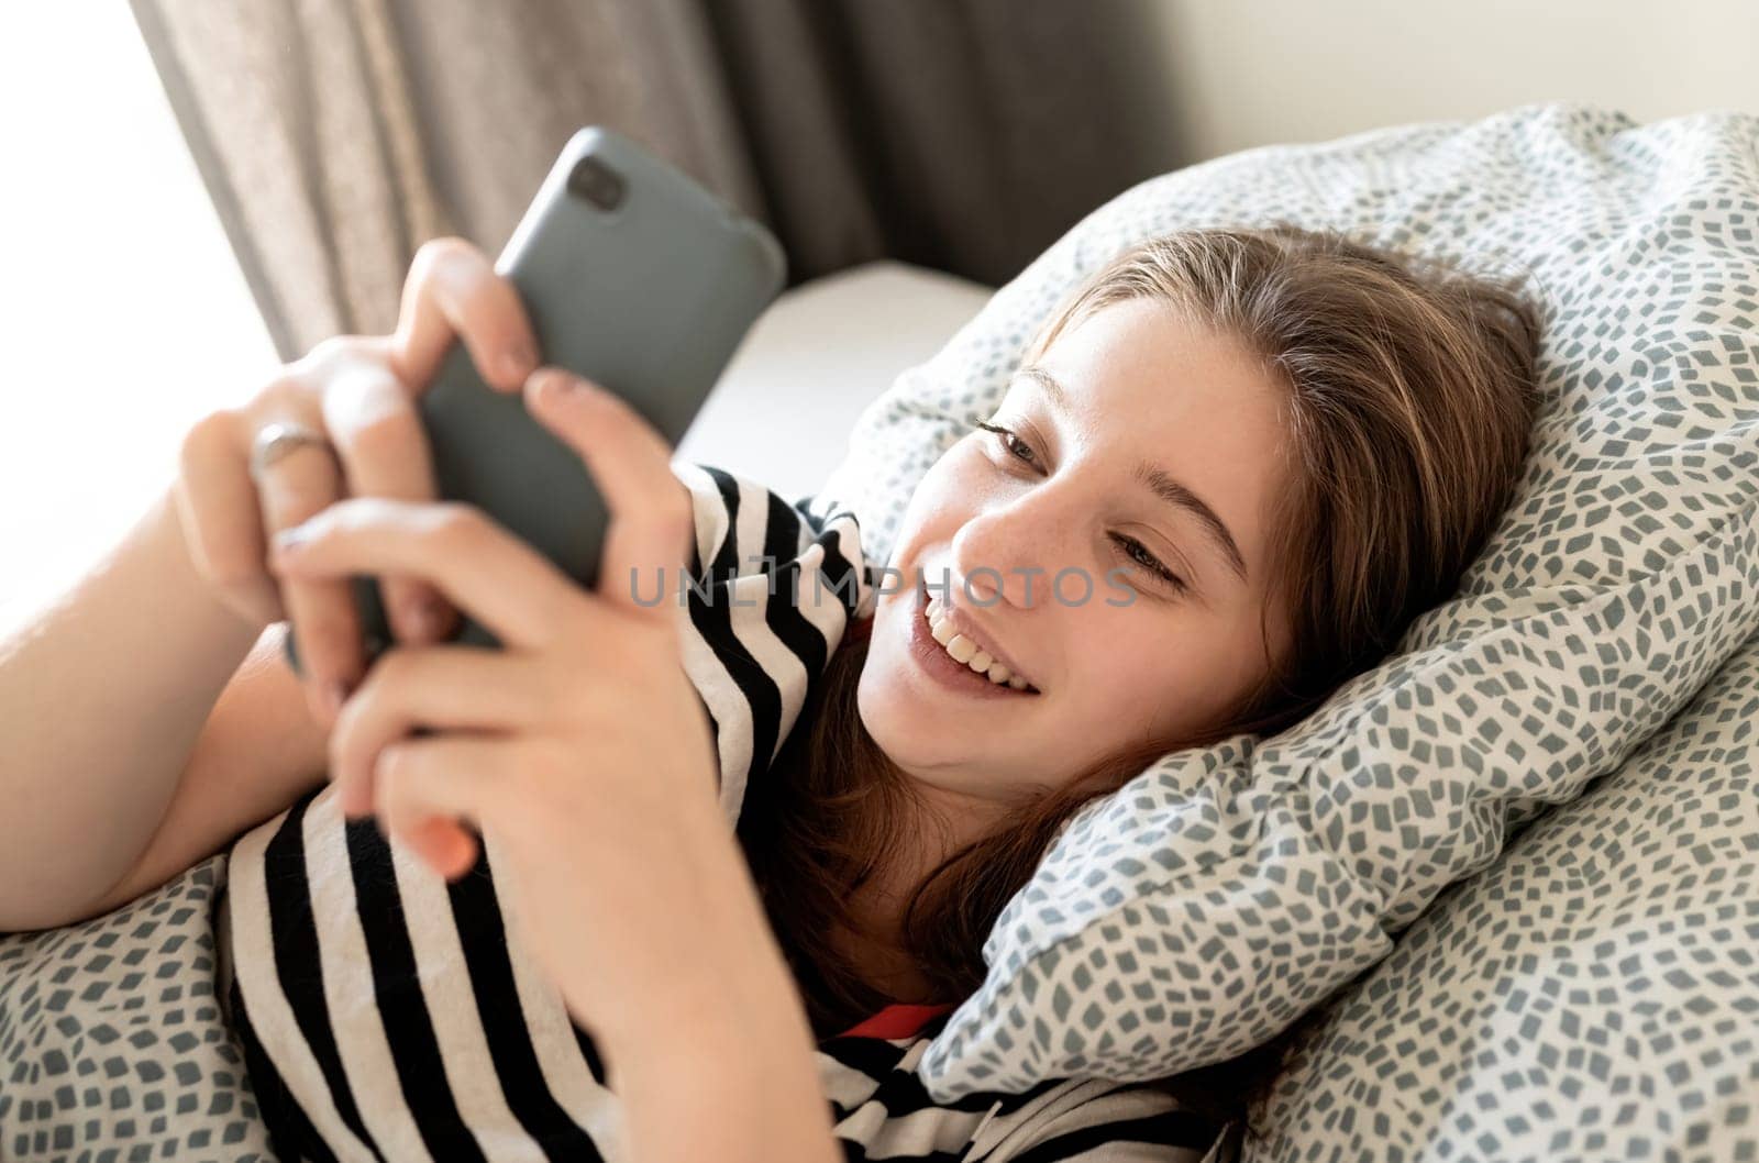
[[[953,537],[953,602],[1020,609],[1048,603],[1057,570],[1084,565],[1068,552],[1077,528],[1069,505],[1048,484],[989,505]]]

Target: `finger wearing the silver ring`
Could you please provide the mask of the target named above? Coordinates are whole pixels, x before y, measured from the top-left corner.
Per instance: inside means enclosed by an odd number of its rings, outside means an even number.
[[[299,413],[283,405],[274,417],[322,431],[318,415]],[[250,459],[250,443],[267,421],[246,433],[237,463]],[[341,466],[329,445],[303,443],[281,454],[259,475],[257,500],[260,528],[273,537],[280,530],[304,523],[343,494]],[[348,577],[276,577],[281,605],[292,621],[294,640],[304,670],[303,686],[315,721],[329,727],[366,670],[361,640],[361,614],[354,603]]]

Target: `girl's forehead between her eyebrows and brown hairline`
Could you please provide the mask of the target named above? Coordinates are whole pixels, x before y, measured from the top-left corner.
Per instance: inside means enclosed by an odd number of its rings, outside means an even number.
[[[1008,399],[1033,401],[1087,472],[1129,484],[1149,461],[1201,496],[1233,530],[1247,565],[1281,482],[1288,389],[1230,336],[1186,324],[1166,303],[1129,299],[1068,327],[1036,364],[1061,385],[1055,412],[1033,377]],[[1136,487],[1136,486],[1133,486]]]

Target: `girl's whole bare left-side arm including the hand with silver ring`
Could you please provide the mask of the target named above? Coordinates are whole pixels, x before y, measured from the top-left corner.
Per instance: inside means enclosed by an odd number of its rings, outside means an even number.
[[[415,396],[456,341],[493,368],[498,392],[519,391],[536,362],[514,285],[470,243],[431,239],[396,334],[327,340],[243,406],[199,421],[125,542],[0,640],[0,931],[114,908],[322,778],[331,711],[318,691],[362,662],[348,589],[283,593],[262,540],[347,493],[434,494]],[[253,480],[248,447],[271,421],[320,429],[339,463]],[[417,596],[387,579],[399,644],[440,637],[406,618]],[[288,618],[303,686],[278,658],[281,633],[264,633]]]

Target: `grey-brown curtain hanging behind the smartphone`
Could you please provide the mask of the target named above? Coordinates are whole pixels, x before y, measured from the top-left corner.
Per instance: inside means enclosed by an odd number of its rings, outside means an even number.
[[[765,222],[790,285],[990,285],[1180,164],[1103,0],[130,0],[283,359],[396,324],[415,248],[500,252],[582,125]]]

